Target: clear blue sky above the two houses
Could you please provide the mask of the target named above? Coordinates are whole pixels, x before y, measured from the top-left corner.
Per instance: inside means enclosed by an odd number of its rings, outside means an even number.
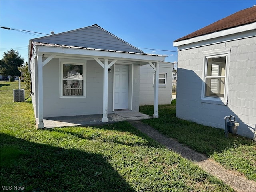
[[[256,0],[0,0],[0,25],[56,34],[98,24],[144,52],[168,55],[166,61],[174,62],[174,40],[255,4]],[[29,40],[40,36],[44,35],[0,29],[0,58],[13,48],[28,61]]]

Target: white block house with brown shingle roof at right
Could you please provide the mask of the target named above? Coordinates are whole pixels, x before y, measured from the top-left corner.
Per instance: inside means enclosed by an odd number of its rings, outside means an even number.
[[[234,115],[237,134],[256,124],[256,7],[174,41],[178,48],[176,116],[216,128]]]

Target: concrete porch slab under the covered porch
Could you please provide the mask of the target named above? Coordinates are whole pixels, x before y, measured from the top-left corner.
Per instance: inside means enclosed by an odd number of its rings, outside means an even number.
[[[98,115],[77,115],[63,117],[44,118],[45,128],[68,127],[68,126],[92,126],[109,124],[118,121],[134,121],[142,119],[150,119],[152,116],[140,112],[118,111],[113,114],[108,114],[108,122],[102,122],[102,114]],[[38,121],[38,119],[36,119]]]

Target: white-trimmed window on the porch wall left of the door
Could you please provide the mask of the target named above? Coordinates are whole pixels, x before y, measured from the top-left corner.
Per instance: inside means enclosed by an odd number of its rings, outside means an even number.
[[[85,97],[85,63],[61,62],[60,97]]]

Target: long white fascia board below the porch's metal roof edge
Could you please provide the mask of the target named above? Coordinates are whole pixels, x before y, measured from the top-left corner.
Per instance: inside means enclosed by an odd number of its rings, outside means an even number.
[[[98,51],[98,50],[83,50],[77,48],[63,48],[63,47],[48,47],[48,46],[36,46],[37,53],[39,54],[66,54],[77,55],[84,57],[97,57],[97,58],[114,58],[114,59],[127,59],[136,61],[164,61],[165,56],[143,55],[143,54],[131,54],[120,53],[110,51]]]

